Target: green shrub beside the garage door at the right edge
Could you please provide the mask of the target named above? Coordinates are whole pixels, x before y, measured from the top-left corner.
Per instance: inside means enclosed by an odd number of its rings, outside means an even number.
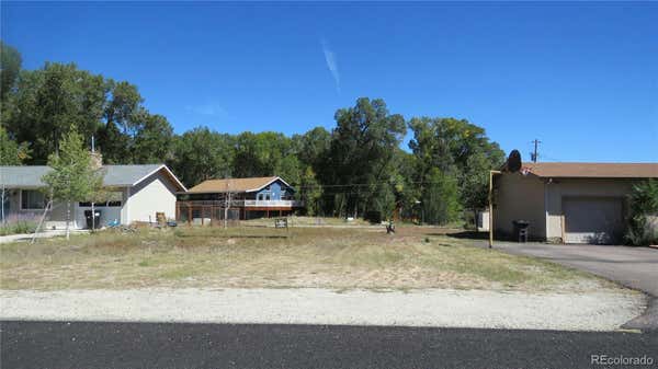
[[[637,246],[658,244],[658,181],[634,185],[628,208],[626,242]]]

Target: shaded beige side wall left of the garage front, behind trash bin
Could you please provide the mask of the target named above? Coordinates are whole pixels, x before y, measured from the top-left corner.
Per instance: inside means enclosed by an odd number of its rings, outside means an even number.
[[[531,238],[546,237],[544,182],[534,175],[503,173],[495,177],[496,199],[494,230],[498,235],[511,235],[512,221],[530,222]]]

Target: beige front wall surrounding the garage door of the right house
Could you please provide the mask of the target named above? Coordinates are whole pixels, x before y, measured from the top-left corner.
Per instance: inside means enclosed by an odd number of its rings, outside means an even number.
[[[631,180],[556,178],[547,184],[547,237],[563,237],[563,199],[565,197],[616,197],[625,199],[633,187]],[[624,200],[623,204],[626,204]],[[626,208],[624,208],[624,216]]]

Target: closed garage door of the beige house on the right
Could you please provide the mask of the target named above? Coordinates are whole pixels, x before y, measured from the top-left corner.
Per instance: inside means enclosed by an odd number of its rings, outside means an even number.
[[[616,243],[623,231],[619,197],[567,197],[563,200],[566,243]]]

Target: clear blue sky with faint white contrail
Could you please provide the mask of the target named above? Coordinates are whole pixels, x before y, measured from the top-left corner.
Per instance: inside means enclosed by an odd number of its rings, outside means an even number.
[[[360,96],[544,161],[658,161],[658,3],[15,3],[1,37],[139,87],[178,132],[331,128]]]

